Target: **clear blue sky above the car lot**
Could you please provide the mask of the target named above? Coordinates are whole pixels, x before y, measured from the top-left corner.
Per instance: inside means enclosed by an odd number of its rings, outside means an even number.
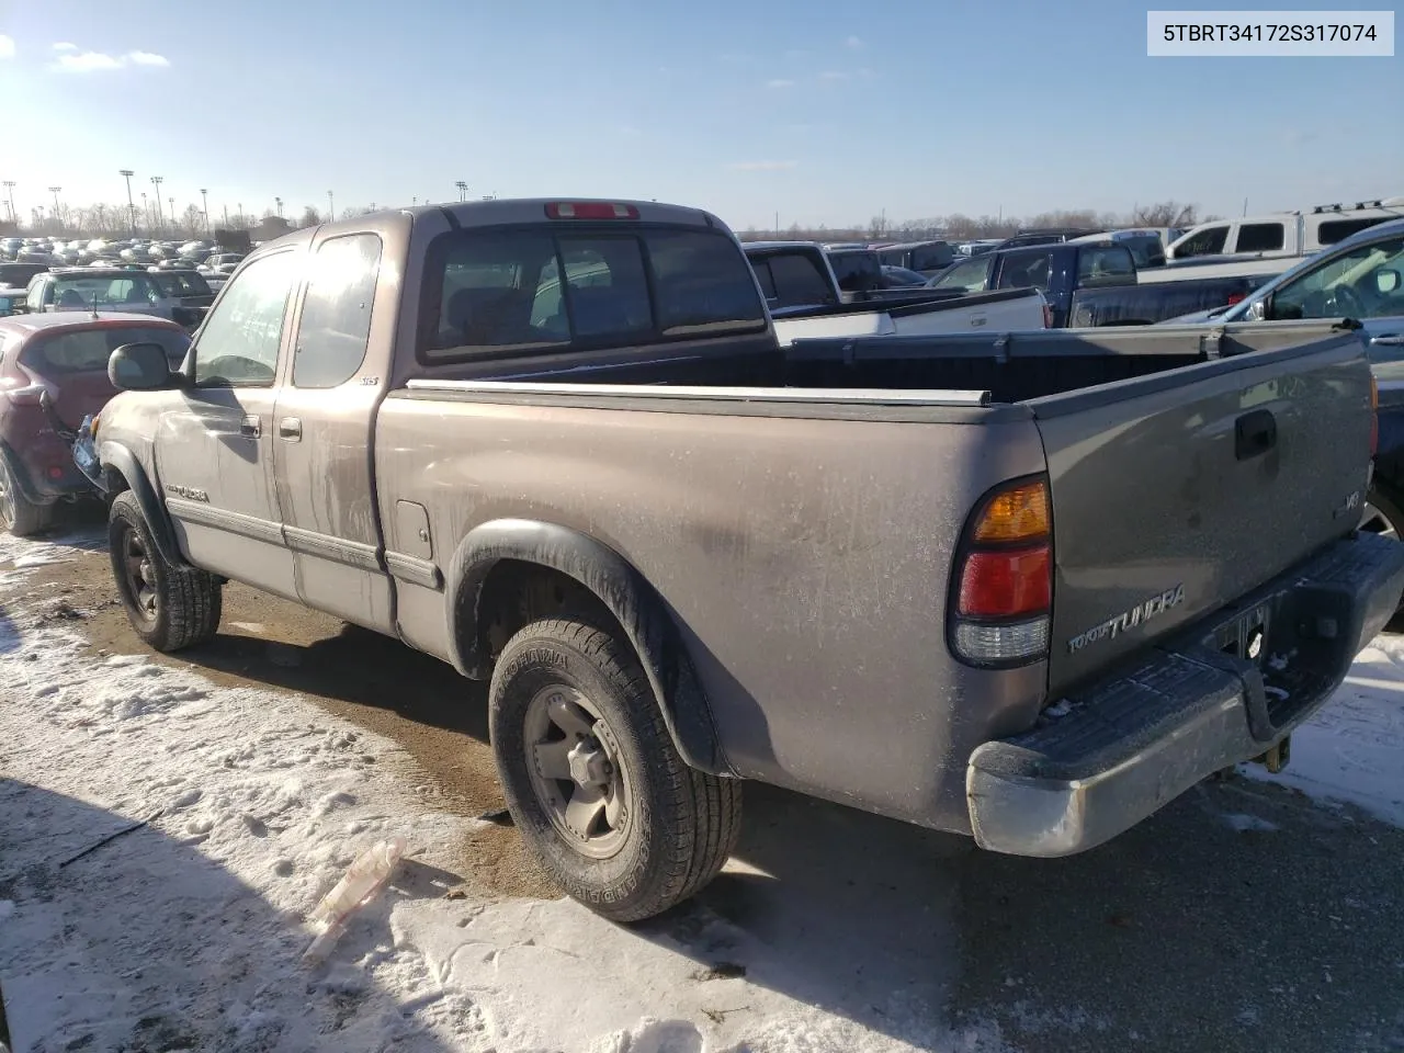
[[[124,167],[212,215],[466,180],[736,227],[1404,194],[1404,59],[1150,59],[1125,0],[0,0],[0,34],[21,213]]]

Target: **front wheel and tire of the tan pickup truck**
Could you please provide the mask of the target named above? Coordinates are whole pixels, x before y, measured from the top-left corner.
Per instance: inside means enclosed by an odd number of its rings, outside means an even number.
[[[107,522],[117,595],[136,635],[159,651],[211,640],[223,607],[219,583],[166,562],[131,490],[112,501]]]

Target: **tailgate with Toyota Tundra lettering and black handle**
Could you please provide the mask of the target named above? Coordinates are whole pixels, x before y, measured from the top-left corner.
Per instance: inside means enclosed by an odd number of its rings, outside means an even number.
[[[1053,503],[1050,698],[1359,524],[1365,345],[1314,334],[1228,327],[1223,358],[1028,403]]]

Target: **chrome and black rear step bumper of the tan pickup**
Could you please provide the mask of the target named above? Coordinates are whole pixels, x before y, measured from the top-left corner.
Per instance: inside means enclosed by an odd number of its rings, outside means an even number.
[[[1259,757],[1307,720],[1390,621],[1404,545],[1359,535],[1139,661],[1070,694],[1059,719],[970,754],[981,848],[1060,856],[1095,848],[1207,775]],[[1247,642],[1262,632],[1258,660]]]

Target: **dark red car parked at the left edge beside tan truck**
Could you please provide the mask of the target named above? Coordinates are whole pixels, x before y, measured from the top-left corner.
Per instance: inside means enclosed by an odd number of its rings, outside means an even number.
[[[178,365],[190,336],[150,314],[0,317],[0,526],[37,534],[59,501],[94,493],[73,463],[73,439],[117,395],[107,359],[122,344],[160,344]]]

